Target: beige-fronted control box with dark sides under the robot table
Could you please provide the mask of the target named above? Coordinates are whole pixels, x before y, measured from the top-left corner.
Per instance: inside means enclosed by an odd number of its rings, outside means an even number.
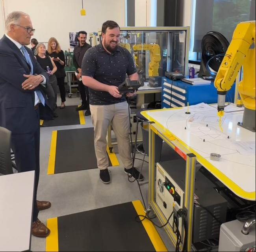
[[[193,243],[219,238],[220,225],[226,221],[227,201],[215,191],[215,185],[200,172],[201,169],[204,168],[198,169],[195,175]],[[186,161],[182,158],[157,163],[156,204],[166,219],[171,215],[175,204],[184,208],[185,175]],[[173,217],[169,223],[173,224]],[[181,227],[180,219],[179,230],[182,234]]]

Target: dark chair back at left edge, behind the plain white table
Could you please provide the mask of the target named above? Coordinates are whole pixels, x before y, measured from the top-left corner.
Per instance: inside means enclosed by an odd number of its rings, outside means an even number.
[[[12,174],[11,161],[11,132],[6,128],[0,127],[0,173]]]

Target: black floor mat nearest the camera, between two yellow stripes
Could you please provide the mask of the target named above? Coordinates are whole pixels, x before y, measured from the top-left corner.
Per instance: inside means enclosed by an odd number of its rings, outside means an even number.
[[[59,251],[156,251],[132,202],[58,217]]]

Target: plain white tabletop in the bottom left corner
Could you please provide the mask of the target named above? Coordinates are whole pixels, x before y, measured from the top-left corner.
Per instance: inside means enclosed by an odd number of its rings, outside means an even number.
[[[35,172],[0,176],[0,251],[30,250]]]

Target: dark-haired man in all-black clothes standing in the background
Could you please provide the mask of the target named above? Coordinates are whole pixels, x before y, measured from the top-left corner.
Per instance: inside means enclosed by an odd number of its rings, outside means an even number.
[[[74,66],[76,67],[76,72],[77,72],[76,78],[77,78],[77,83],[78,83],[78,89],[79,89],[80,96],[82,99],[82,106],[77,107],[76,111],[87,109],[87,111],[85,111],[85,115],[91,115],[90,107],[89,107],[88,87],[85,87],[81,80],[82,59],[83,59],[85,52],[91,47],[91,45],[89,45],[85,42],[86,37],[87,37],[86,31],[79,31],[78,32],[79,44],[77,46],[75,46],[75,48],[74,48],[73,62],[74,62]]]

